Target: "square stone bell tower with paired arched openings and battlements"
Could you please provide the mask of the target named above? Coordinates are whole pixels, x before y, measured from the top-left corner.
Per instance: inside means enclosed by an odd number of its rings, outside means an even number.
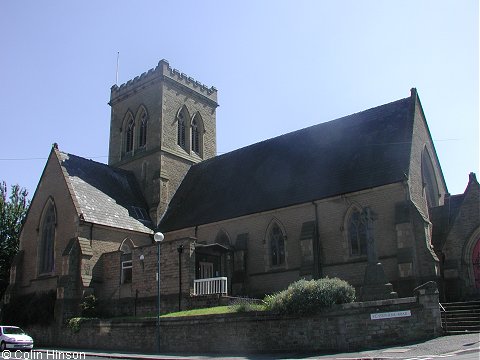
[[[217,90],[161,60],[109,105],[108,164],[135,174],[157,224],[190,166],[216,155]]]

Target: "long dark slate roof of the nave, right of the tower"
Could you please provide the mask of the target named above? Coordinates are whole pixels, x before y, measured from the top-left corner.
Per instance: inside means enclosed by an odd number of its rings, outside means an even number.
[[[192,166],[162,217],[160,230],[402,181],[409,169],[415,99],[321,123]]]

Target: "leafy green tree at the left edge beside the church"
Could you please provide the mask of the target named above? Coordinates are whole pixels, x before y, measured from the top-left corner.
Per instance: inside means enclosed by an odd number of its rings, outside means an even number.
[[[12,185],[7,198],[7,184],[0,184],[0,297],[9,279],[10,265],[18,252],[20,230],[30,205],[28,192],[18,185]]]

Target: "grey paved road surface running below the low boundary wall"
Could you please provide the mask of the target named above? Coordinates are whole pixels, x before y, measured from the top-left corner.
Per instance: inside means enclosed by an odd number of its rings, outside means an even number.
[[[444,336],[433,340],[410,344],[405,346],[384,349],[367,350],[354,353],[338,354],[265,354],[265,355],[170,355],[170,354],[138,354],[117,353],[112,351],[84,351],[84,350],[54,350],[36,349],[32,353],[4,353],[5,360],[76,360],[101,358],[113,359],[165,359],[165,360],[270,360],[270,359],[408,359],[408,360],[479,360],[480,359],[480,334],[464,334]],[[100,359],[99,359],[100,358]]]

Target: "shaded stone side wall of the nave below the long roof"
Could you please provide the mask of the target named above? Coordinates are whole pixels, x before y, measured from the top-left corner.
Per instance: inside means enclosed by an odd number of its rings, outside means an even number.
[[[238,286],[241,290],[234,287],[231,295],[262,298],[265,294],[285,289],[296,280],[313,276],[311,271],[303,268],[305,255],[313,257],[313,251],[302,252],[301,235],[305,223],[317,221],[321,276],[339,277],[358,289],[363,285],[367,257],[351,254],[347,221],[352,208],[369,207],[378,215],[373,232],[387,279],[399,296],[409,296],[423,279],[432,278],[425,274],[434,274],[435,261],[427,249],[423,222],[419,229],[413,227],[413,219],[418,214],[407,208],[404,218],[399,219],[399,204],[404,207],[409,204],[405,201],[406,190],[405,184],[395,183],[314,203],[222,220],[172,231],[165,234],[166,242],[191,236],[196,237],[197,242],[211,244],[222,232],[227,234],[230,245],[237,247],[237,239],[247,234],[244,277],[241,283],[235,284],[241,285]],[[285,263],[272,267],[269,265],[268,229],[274,221],[285,231]],[[408,228],[398,228],[399,224]],[[313,245],[313,241],[311,243]],[[310,249],[313,250],[313,246]],[[412,265],[416,257],[422,268]],[[404,270],[405,263],[410,265],[408,271]]]

